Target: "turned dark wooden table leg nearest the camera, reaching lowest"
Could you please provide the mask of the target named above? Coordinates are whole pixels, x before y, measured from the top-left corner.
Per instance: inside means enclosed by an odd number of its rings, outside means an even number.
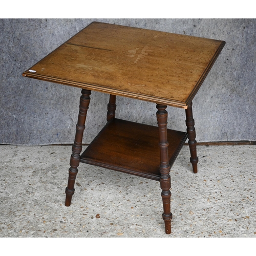
[[[157,104],[157,123],[159,127],[160,138],[160,186],[162,189],[163,200],[163,220],[165,225],[165,233],[170,234],[170,221],[173,218],[170,212],[170,165],[168,158],[168,141],[167,141],[167,108],[166,105]]]

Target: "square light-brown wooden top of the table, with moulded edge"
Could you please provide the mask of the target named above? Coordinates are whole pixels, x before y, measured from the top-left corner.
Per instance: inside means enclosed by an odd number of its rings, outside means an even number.
[[[224,45],[93,22],[23,75],[186,109]]]

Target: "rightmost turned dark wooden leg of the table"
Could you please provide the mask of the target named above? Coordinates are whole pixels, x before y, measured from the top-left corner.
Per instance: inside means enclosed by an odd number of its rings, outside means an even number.
[[[186,111],[186,126],[187,126],[187,134],[188,134],[188,145],[190,150],[190,163],[193,167],[193,172],[197,173],[197,141],[196,141],[196,130],[195,130],[195,120],[193,119],[192,112],[192,102],[188,105]]]

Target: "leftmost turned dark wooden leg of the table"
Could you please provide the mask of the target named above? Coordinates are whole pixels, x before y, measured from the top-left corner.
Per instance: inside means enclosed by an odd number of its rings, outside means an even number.
[[[65,205],[70,206],[72,196],[75,193],[75,180],[76,175],[78,172],[77,167],[80,163],[80,153],[82,151],[82,136],[83,136],[83,130],[85,129],[84,124],[86,123],[86,116],[87,116],[87,110],[89,108],[90,103],[90,94],[91,91],[89,90],[82,90],[82,95],[80,97],[80,105],[79,105],[79,115],[78,115],[78,121],[76,125],[76,135],[75,135],[75,141],[72,146],[72,152],[70,158],[70,168],[69,168],[69,181],[68,186],[66,187],[66,201]]]

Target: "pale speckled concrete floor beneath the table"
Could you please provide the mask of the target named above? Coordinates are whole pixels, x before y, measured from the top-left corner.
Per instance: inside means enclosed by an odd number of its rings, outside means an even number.
[[[71,146],[0,146],[0,237],[256,237],[256,145],[184,146],[172,177],[172,234],[160,184],[80,164],[64,205]]]

